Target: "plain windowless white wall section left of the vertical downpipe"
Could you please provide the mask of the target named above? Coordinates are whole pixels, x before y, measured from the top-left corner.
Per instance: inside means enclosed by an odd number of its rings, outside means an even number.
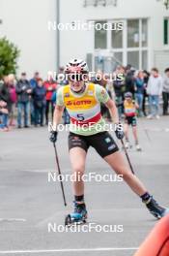
[[[18,74],[26,71],[31,77],[40,71],[47,77],[56,65],[56,33],[47,28],[55,18],[55,0],[0,0],[1,35],[11,40],[21,51]]]

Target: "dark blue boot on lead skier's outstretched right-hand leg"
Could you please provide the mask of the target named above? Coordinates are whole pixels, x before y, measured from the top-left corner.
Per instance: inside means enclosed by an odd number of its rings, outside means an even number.
[[[165,215],[169,214],[169,208],[163,208],[159,206],[152,196],[149,200],[143,201],[143,203],[157,219],[160,219]]]

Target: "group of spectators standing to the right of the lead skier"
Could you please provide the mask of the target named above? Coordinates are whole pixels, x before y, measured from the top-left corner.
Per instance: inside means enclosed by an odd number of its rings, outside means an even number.
[[[119,79],[119,74],[121,79]],[[104,79],[99,80],[99,84],[107,89],[111,98],[116,102],[120,117],[124,117],[124,100],[127,92],[132,94],[133,101],[138,105],[138,117],[158,119],[160,114],[168,115],[169,68],[160,75],[156,68],[148,72],[146,70],[136,71],[130,65],[126,68],[119,66],[114,72],[114,78],[113,81],[108,82]],[[109,112],[103,106],[102,112],[107,119],[110,118]]]

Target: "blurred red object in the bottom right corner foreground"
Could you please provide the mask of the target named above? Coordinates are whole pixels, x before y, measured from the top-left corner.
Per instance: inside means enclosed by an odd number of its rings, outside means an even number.
[[[169,214],[159,220],[134,256],[169,256]]]

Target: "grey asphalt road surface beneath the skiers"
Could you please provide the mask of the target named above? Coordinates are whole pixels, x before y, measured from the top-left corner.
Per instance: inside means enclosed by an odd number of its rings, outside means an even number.
[[[139,135],[142,152],[128,151],[135,173],[160,204],[169,206],[169,117],[139,120]],[[71,172],[67,137],[60,133],[57,144],[65,175]],[[124,182],[92,180],[85,183],[85,232],[64,231],[59,225],[72,210],[71,183],[64,182],[65,208],[60,184],[48,181],[50,172],[55,172],[55,158],[46,127],[0,133],[0,255],[131,256],[155,226],[155,218]],[[93,148],[86,172],[112,174]],[[111,232],[102,231],[105,225]]]

